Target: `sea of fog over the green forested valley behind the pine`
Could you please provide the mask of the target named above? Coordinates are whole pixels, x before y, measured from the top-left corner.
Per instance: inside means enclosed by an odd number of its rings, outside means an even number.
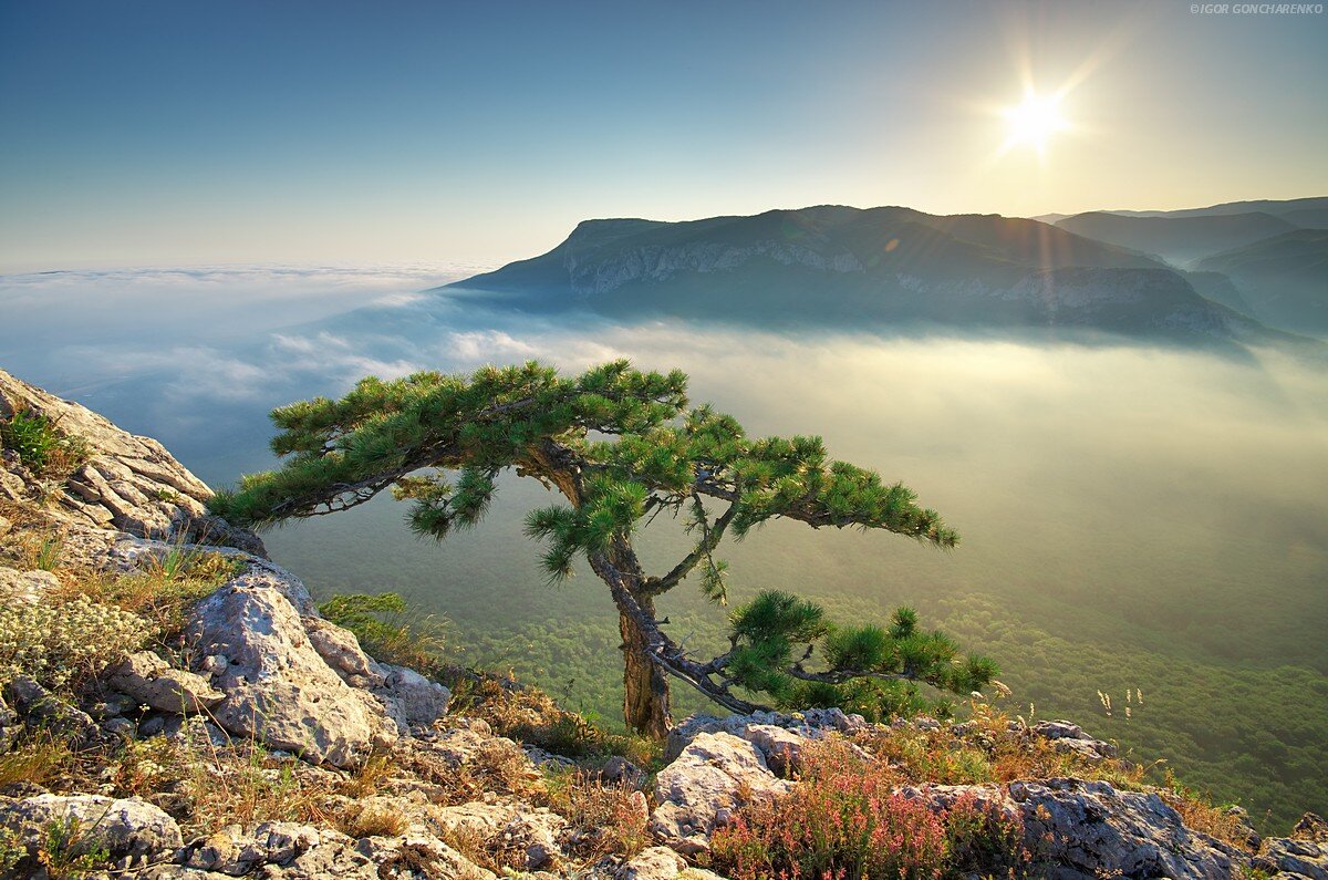
[[[749,433],[821,435],[831,455],[916,489],[963,537],[946,553],[773,524],[728,548],[734,601],[776,586],[853,619],[915,605],[996,658],[1012,713],[1069,716],[1142,760],[1165,756],[1256,816],[1328,808],[1323,366],[1275,351],[623,326],[420,292],[471,271],[0,278],[0,367],[157,436],[212,485],[272,467],[271,407],[368,372],[530,358],[681,367],[695,401]],[[486,524],[441,546],[410,537],[388,500],[264,540],[315,594],[397,590],[449,618],[469,662],[611,719],[604,589],[588,573],[546,586],[521,534],[522,514],[550,500],[510,477]],[[641,541],[664,566],[684,538],[659,521]],[[689,585],[663,613],[699,654],[717,647],[722,610]]]

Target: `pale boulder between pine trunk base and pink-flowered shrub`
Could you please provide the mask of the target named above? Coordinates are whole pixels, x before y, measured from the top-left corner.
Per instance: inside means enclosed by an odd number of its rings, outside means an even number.
[[[709,836],[753,798],[788,794],[756,746],[726,732],[700,734],[677,760],[655,778],[659,807],[651,831],[667,845],[691,856],[708,852]]]

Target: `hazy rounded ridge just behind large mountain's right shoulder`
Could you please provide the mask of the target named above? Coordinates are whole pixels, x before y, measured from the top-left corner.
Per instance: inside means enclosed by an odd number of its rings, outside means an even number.
[[[1287,219],[1263,211],[1187,217],[1130,217],[1090,211],[1066,217],[1057,221],[1056,226],[1100,242],[1158,254],[1177,265],[1299,229]]]

